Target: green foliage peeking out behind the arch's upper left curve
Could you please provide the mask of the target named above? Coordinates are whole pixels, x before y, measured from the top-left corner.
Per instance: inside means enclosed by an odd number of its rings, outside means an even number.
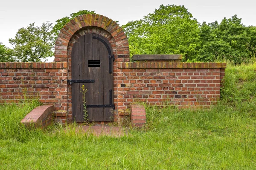
[[[83,15],[83,14],[96,14],[96,13],[94,11],[80,10],[79,12],[70,14],[69,17],[63,17],[59,20],[56,20],[57,23],[52,28],[52,33],[55,37],[55,40],[58,37],[58,34],[59,34],[60,30],[64,27],[64,25],[66,25],[68,22],[70,22],[70,20],[72,20],[73,18],[75,18],[79,15]]]

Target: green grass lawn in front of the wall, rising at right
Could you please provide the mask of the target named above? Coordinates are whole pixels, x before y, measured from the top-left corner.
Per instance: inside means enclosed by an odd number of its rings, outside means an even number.
[[[1,169],[254,170],[256,64],[228,66],[221,101],[208,110],[146,107],[147,126],[129,135],[76,133],[76,125],[26,130],[36,100],[0,106]],[[53,133],[54,131],[54,133]]]

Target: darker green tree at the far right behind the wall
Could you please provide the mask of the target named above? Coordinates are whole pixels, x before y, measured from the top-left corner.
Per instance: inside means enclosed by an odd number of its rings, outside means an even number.
[[[220,24],[204,22],[200,26],[201,49],[197,61],[229,60],[241,63],[255,57],[256,29],[246,27],[236,15]]]

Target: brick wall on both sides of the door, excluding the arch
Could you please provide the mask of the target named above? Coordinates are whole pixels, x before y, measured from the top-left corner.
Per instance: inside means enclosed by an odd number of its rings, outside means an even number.
[[[70,77],[67,65],[67,62],[0,63],[1,101],[23,98],[26,89],[28,95],[38,96],[42,103],[65,112],[57,121],[70,122],[72,98],[71,86],[67,85]],[[137,101],[179,108],[208,108],[220,98],[226,68],[225,63],[115,62],[114,65],[115,121],[122,119],[130,104]]]

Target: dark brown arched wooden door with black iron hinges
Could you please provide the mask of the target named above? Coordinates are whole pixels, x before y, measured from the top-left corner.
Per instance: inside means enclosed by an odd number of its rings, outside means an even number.
[[[113,51],[98,34],[81,36],[72,48],[72,120],[84,122],[82,85],[89,121],[113,121]]]

